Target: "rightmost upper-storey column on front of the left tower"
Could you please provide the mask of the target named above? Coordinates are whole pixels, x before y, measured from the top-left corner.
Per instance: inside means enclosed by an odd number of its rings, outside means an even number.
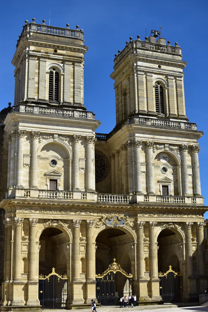
[[[94,137],[86,136],[86,191],[93,191],[92,144]]]

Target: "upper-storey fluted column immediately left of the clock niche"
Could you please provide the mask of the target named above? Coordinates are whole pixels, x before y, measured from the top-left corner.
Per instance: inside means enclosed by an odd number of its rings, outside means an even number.
[[[154,177],[152,168],[152,146],[153,142],[146,141],[145,146],[147,150],[147,180],[148,180],[148,194],[154,194]]]

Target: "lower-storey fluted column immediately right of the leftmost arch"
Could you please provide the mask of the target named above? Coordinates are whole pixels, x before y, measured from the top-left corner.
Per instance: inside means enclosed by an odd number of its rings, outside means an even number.
[[[73,220],[73,254],[74,254],[74,276],[73,282],[80,280],[80,223],[82,220]]]

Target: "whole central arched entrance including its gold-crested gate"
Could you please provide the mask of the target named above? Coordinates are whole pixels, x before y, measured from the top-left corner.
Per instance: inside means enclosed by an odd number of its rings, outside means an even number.
[[[104,229],[96,237],[97,299],[101,305],[116,305],[119,296],[132,293],[135,269],[132,246],[131,236],[118,228]],[[115,270],[117,266],[119,270]]]

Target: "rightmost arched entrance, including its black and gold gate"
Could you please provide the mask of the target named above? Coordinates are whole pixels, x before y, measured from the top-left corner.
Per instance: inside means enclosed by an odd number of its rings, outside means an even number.
[[[183,301],[183,283],[180,269],[181,238],[176,230],[166,228],[158,237],[158,277],[160,279],[160,295],[165,303]]]

